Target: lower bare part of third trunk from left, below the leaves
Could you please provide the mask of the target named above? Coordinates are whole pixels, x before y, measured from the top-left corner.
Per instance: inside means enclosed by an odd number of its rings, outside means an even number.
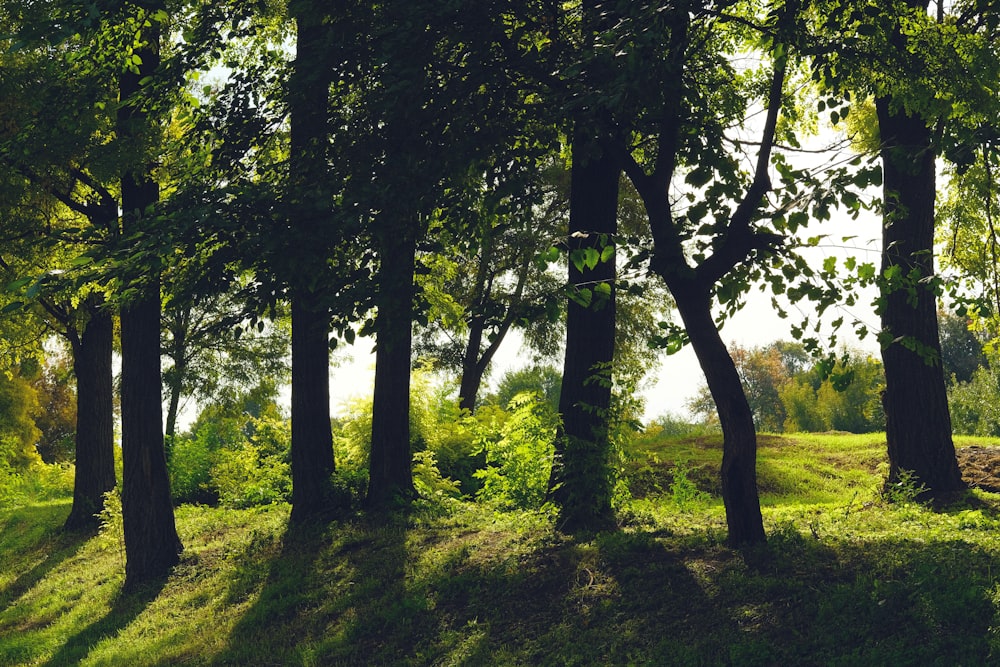
[[[330,317],[292,300],[292,514],[303,521],[335,509],[330,430]]]

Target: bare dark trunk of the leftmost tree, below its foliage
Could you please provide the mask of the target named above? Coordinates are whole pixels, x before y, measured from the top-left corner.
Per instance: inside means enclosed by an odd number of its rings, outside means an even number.
[[[112,344],[110,313],[90,309],[83,333],[72,340],[76,375],[76,477],[66,530],[97,526],[104,494],[115,488]]]

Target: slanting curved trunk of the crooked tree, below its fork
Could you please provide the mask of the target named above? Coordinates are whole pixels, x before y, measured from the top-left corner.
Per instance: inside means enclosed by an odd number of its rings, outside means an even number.
[[[674,277],[675,281],[679,281]],[[669,285],[684,328],[705,373],[722,425],[722,500],[728,543],[738,547],[767,540],[757,495],[757,433],[740,375],[712,318],[712,296],[696,284]]]

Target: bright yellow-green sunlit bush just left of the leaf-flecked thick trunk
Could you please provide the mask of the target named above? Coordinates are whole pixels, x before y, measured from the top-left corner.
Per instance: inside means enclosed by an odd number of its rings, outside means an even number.
[[[475,437],[486,453],[476,498],[501,508],[539,509],[545,503],[552,468],[556,420],[538,394],[522,393],[510,403],[510,416],[477,424]]]

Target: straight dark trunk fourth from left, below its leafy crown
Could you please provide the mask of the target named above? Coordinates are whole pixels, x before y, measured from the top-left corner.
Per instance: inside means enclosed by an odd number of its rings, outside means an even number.
[[[416,496],[410,452],[416,237],[412,230],[385,230],[379,247],[378,340],[367,498],[367,505],[376,508]]]

